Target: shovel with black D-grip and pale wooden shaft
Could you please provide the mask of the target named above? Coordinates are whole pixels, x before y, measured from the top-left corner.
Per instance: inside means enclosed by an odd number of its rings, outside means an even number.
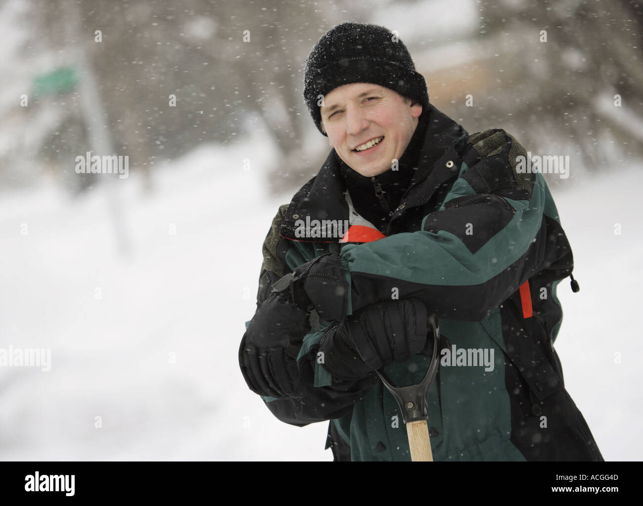
[[[429,428],[428,393],[438,372],[438,348],[440,330],[435,314],[428,317],[428,324],[433,329],[433,356],[424,379],[420,383],[407,386],[394,386],[383,372],[376,371],[384,386],[393,394],[402,411],[402,419],[406,424],[408,446],[411,449],[412,462],[433,462]]]

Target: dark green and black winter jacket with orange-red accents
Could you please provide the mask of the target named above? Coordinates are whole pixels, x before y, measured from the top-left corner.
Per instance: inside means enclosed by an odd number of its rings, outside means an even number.
[[[304,217],[364,223],[331,152],[279,208],[263,246],[257,305],[281,276],[339,252],[347,314],[414,296],[439,317],[446,345],[428,398],[435,461],[602,460],[553,348],[562,320],[556,289],[573,260],[545,179],[521,173],[516,157],[527,153],[507,132],[470,136],[432,105],[428,113],[417,174],[386,237],[356,244],[297,233]],[[303,340],[307,395],[264,397],[267,407],[297,426],[331,420],[327,447],[336,460],[410,460],[401,412],[383,384],[341,382],[316,361],[333,324],[321,321]],[[385,372],[397,384],[419,383],[428,364],[413,356]]]

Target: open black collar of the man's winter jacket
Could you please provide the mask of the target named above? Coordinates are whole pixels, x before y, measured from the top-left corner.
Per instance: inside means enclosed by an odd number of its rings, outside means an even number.
[[[454,122],[429,104],[429,118],[418,170],[413,176],[409,189],[391,217],[391,223],[410,208],[422,205],[431,199],[444,181],[458,174],[460,170],[459,151],[468,134],[461,125]],[[451,161],[451,163],[448,163]],[[321,166],[317,176],[308,181],[294,195],[282,221],[280,235],[285,239],[306,242],[329,242],[323,238],[297,237],[296,222],[334,220],[337,223],[349,219],[349,205],[345,194],[347,185],[341,175],[335,150],[332,149]],[[330,242],[337,242],[332,240]]]

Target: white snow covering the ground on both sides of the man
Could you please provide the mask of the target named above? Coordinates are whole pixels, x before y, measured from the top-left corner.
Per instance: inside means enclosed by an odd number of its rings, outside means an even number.
[[[159,168],[149,197],[136,174],[118,181],[126,257],[106,188],[1,195],[0,348],[50,348],[51,370],[0,367],[0,459],[332,460],[327,422],[275,419],[237,363],[261,244],[291,197],[267,197],[273,154],[204,146]],[[607,460],[640,458],[640,183],[632,168],[552,189],[581,284],[560,285],[556,348]]]

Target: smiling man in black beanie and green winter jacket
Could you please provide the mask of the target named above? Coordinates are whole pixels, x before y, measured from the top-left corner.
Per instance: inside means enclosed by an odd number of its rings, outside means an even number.
[[[542,175],[517,165],[526,150],[435,109],[381,26],[332,28],[304,80],[333,149],[266,236],[239,348],[249,388],[289,424],[331,420],[335,460],[410,460],[375,371],[419,383],[436,314],[434,460],[602,460],[553,348],[572,251]]]

